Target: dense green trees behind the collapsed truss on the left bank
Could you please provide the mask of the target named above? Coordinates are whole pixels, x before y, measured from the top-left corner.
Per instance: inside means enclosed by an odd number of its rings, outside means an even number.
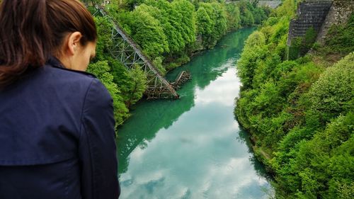
[[[167,70],[188,62],[195,51],[214,47],[229,30],[261,24],[270,13],[248,1],[216,0],[113,1],[106,8],[144,53]]]

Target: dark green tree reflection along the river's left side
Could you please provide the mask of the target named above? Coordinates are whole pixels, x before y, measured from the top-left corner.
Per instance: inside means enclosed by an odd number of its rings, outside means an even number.
[[[210,82],[227,71],[227,68],[218,67],[221,67],[229,58],[241,53],[244,40],[252,31],[253,29],[249,28],[231,33],[225,36],[215,49],[202,52],[188,64],[170,72],[167,76],[168,79],[174,79],[183,70],[188,70],[192,74],[193,79],[183,85],[181,90],[178,90],[181,99],[142,101],[134,107],[132,116],[122,127],[118,128],[117,146],[120,174],[127,171],[129,155],[136,147],[146,148],[148,141],[155,137],[156,132],[162,127],[165,129],[170,127],[183,113],[195,105],[194,96],[197,86],[204,89]],[[222,47],[223,45],[226,47]]]

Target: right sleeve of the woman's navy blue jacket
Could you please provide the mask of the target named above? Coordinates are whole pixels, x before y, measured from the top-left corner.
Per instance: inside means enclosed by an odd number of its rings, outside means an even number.
[[[82,110],[79,161],[83,198],[118,198],[113,100],[97,79],[91,82]]]

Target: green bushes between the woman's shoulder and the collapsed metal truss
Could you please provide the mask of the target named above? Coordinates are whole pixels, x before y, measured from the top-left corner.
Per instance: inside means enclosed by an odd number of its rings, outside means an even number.
[[[96,17],[99,39],[96,47],[96,57],[89,65],[88,72],[96,74],[105,87],[110,91],[115,108],[117,125],[123,123],[129,116],[128,108],[140,98],[146,89],[147,77],[135,67],[127,69],[110,55],[110,46],[113,41],[110,37],[112,23],[108,18]]]

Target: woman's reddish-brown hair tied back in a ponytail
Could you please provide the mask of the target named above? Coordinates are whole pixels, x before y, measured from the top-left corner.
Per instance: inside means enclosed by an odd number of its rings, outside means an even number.
[[[1,1],[0,1],[1,2]],[[59,55],[68,33],[96,42],[91,13],[77,0],[3,0],[0,5],[0,88]]]

